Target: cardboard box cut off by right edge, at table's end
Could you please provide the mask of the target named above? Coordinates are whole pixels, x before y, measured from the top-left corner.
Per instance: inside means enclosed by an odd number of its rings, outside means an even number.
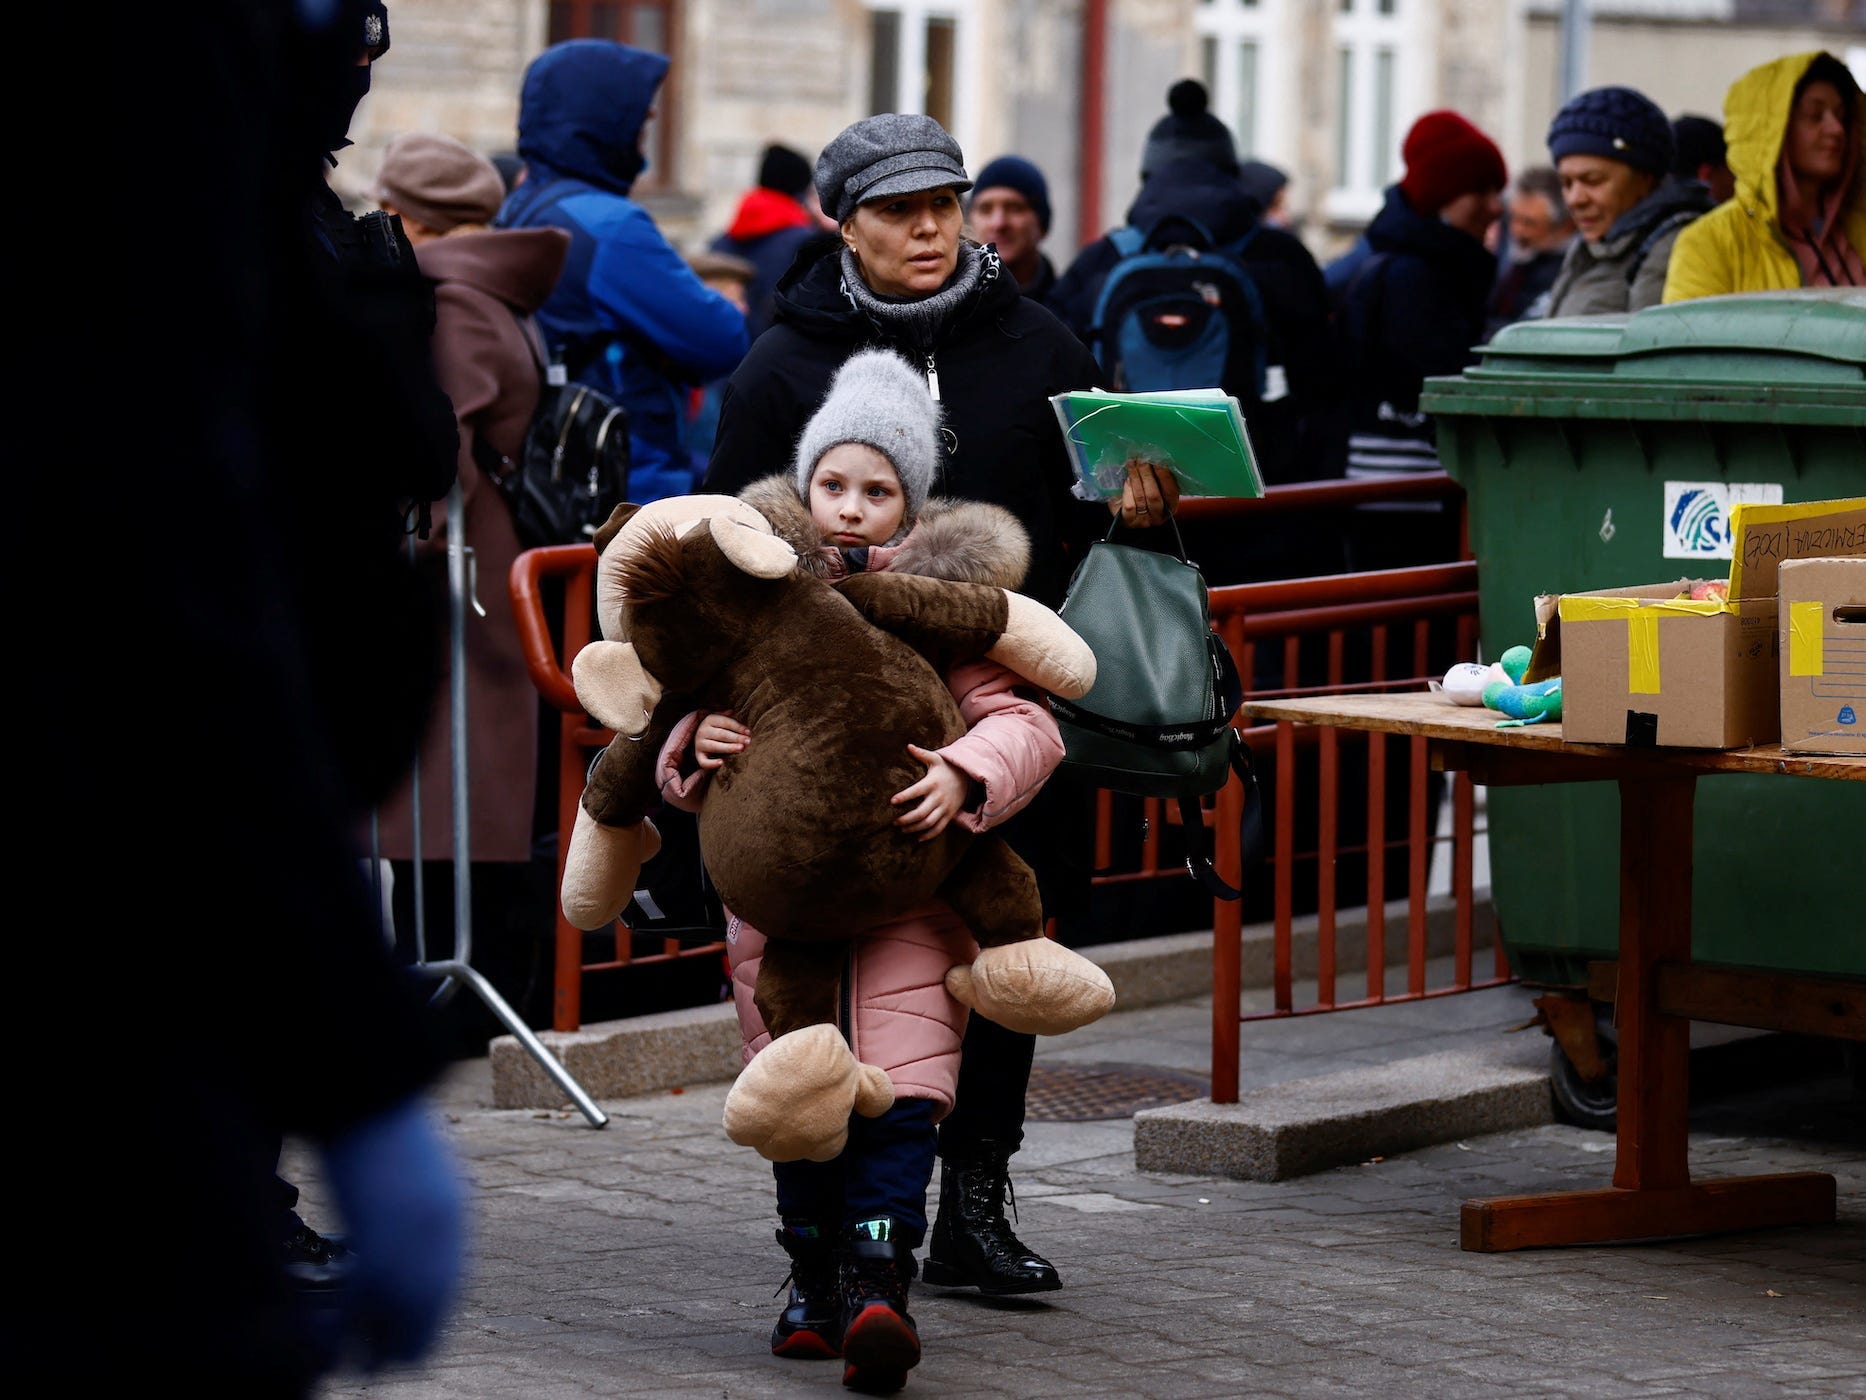
[[[1866,558],[1782,564],[1782,747],[1866,756]]]

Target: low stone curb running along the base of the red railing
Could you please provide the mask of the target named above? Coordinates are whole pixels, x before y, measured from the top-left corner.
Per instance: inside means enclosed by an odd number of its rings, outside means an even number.
[[[1446,898],[1427,905],[1427,954],[1454,946],[1454,905]],[[1489,928],[1489,905],[1478,907],[1478,928]],[[1386,961],[1405,961],[1405,903],[1386,907]],[[1293,924],[1291,963],[1297,978],[1316,971],[1316,918]],[[1274,969],[1276,931],[1271,924],[1243,930],[1243,986],[1267,987]],[[1189,997],[1211,995],[1211,930],[1166,933],[1125,943],[1097,943],[1080,950],[1114,982],[1114,1006],[1133,1012]],[[1336,971],[1366,969],[1366,909],[1342,911],[1336,922]],[[679,1012],[599,1021],[580,1030],[539,1030],[537,1038],[562,1060],[571,1077],[597,1099],[651,1094],[679,1085],[718,1085],[739,1073],[739,1017],[730,1002]],[[539,1068],[515,1036],[498,1036],[487,1047],[493,1068],[493,1103],[500,1109],[558,1109],[564,1090]]]

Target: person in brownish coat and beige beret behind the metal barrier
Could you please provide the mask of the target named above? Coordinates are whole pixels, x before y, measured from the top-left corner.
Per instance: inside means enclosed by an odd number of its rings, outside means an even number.
[[[416,549],[440,594],[448,590],[452,532],[461,530],[472,551],[466,573],[466,795],[474,965],[494,986],[504,980],[508,986],[500,991],[521,1002],[522,980],[534,958],[541,958],[552,928],[549,889],[536,890],[530,879],[539,696],[524,672],[506,594],[519,538],[506,498],[481,463],[517,457],[537,407],[539,342],[532,312],[556,286],[569,235],[554,228],[487,228],[504,189],[489,159],[429,133],[390,142],[377,175],[377,202],[401,217],[422,273],[435,282],[435,375],[459,422],[465,519],[455,521],[437,506],[433,532]],[[431,862],[424,870],[429,958],[446,956],[453,926],[452,722],[450,693],[442,687],[420,760],[420,851],[411,821],[412,778],[381,808],[381,853],[396,870],[394,909],[403,946],[412,937],[412,862]],[[494,1029],[489,1017],[483,1025]]]

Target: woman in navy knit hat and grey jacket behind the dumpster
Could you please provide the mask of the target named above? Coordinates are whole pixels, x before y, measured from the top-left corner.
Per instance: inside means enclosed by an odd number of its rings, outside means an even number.
[[[1581,237],[1549,293],[1549,315],[1657,306],[1672,243],[1711,207],[1698,181],[1668,179],[1672,123],[1633,88],[1592,88],[1549,123],[1549,157]]]

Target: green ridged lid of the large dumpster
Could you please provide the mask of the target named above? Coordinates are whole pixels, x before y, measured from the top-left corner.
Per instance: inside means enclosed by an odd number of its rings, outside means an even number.
[[[1427,413],[1717,416],[1866,424],[1866,291],[1702,297],[1633,314],[1517,321],[1457,377],[1426,381]],[[1584,390],[1594,411],[1577,401]],[[1691,413],[1678,413],[1691,405]],[[1707,405],[1724,411],[1700,413]],[[1650,411],[1651,413],[1650,413]],[[1814,422],[1836,422],[1816,413]]]

